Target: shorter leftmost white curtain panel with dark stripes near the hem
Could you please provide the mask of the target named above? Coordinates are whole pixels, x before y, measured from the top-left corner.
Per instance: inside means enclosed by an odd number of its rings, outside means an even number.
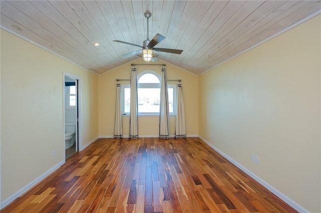
[[[115,106],[115,127],[114,138],[122,138],[122,120],[121,120],[121,103],[120,103],[120,81],[116,84],[116,106]]]

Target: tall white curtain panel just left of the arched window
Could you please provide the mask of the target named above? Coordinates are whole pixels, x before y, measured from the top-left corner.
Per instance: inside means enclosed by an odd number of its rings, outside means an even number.
[[[131,67],[130,74],[130,111],[129,138],[138,138],[138,101],[137,101],[137,69]]]

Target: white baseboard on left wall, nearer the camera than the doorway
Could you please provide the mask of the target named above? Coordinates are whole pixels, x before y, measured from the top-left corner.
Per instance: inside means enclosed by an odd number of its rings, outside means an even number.
[[[45,177],[47,177],[49,174],[51,174],[54,170],[56,170],[57,168],[59,168],[61,165],[63,165],[65,163],[65,161],[61,161],[59,162],[57,165],[55,165],[54,167],[52,167],[51,169],[49,169],[48,171],[46,171],[45,173],[43,173],[42,175],[40,175],[39,177],[37,177],[36,179],[34,179],[32,182],[28,183],[25,187],[23,187],[22,189],[20,189],[19,191],[17,191],[16,193],[14,193],[12,196],[10,196],[8,199],[4,200],[1,203],[1,209],[6,207],[8,204],[10,204],[12,201],[14,201],[15,199],[17,199],[20,195],[22,195],[23,193],[25,193],[26,191],[28,191],[30,188],[32,188],[33,186],[35,186],[37,183],[39,183],[41,180],[43,180]]]

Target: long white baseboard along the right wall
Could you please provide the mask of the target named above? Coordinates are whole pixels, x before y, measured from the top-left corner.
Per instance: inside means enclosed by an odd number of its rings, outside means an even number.
[[[276,188],[274,188],[273,186],[271,186],[270,184],[268,184],[267,182],[265,182],[263,179],[261,179],[260,177],[256,176],[254,173],[252,173],[250,170],[248,170],[247,168],[245,168],[244,166],[242,166],[240,163],[238,163],[237,161],[235,161],[234,159],[232,159],[230,156],[228,156],[227,154],[225,154],[223,151],[221,151],[220,149],[218,149],[217,147],[215,147],[213,144],[211,144],[209,141],[207,141],[206,139],[204,139],[203,137],[201,137],[200,135],[198,136],[199,138],[201,138],[204,142],[206,142],[209,146],[211,146],[214,150],[216,150],[217,152],[219,152],[222,156],[224,156],[226,159],[228,159],[231,163],[233,163],[234,165],[236,165],[238,168],[240,168],[242,171],[244,171],[245,173],[247,173],[249,176],[251,176],[253,179],[255,179],[256,181],[258,181],[261,185],[263,185],[264,187],[266,187],[269,191],[271,191],[273,194],[275,194],[276,196],[278,196],[280,199],[282,199],[284,202],[286,202],[287,204],[289,204],[292,208],[294,208],[295,210],[297,210],[298,212],[308,212],[305,208],[303,208],[302,206],[300,206],[299,204],[297,204],[296,202],[294,202],[292,199],[288,198],[286,195],[284,195],[283,193],[281,193],[280,191],[278,191]]]

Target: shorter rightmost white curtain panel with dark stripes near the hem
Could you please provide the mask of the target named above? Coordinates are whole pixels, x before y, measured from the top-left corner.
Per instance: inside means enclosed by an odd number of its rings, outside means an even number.
[[[177,109],[176,109],[176,121],[175,121],[175,138],[186,137],[186,126],[185,126],[185,108],[183,89],[181,82],[177,85]]]

